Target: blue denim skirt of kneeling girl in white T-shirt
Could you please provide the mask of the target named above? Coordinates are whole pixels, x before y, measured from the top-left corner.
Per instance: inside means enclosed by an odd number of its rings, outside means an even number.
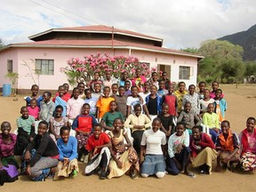
[[[154,175],[156,172],[164,172],[166,164],[163,155],[146,155],[141,164],[141,174]]]

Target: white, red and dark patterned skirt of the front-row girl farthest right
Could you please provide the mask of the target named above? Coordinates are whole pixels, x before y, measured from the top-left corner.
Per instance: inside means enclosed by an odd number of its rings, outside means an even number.
[[[256,155],[252,152],[246,152],[243,154],[240,160],[241,167],[244,171],[256,170]]]

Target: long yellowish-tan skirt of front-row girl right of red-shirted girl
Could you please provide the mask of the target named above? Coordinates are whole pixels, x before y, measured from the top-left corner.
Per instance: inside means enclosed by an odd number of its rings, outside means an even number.
[[[122,169],[117,167],[116,161],[112,158],[108,166],[108,179],[124,175],[124,173],[127,172],[132,165],[138,172],[140,172],[139,158],[134,148],[131,147],[125,150],[124,153],[119,156],[118,160],[122,162]]]

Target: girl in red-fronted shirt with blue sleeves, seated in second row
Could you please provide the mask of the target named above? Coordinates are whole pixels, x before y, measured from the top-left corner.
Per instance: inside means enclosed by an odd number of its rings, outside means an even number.
[[[80,161],[87,163],[88,152],[85,150],[85,146],[87,144],[87,140],[90,136],[92,136],[92,127],[93,124],[96,124],[97,121],[94,116],[89,114],[90,112],[90,105],[88,103],[84,103],[82,107],[82,114],[76,116],[72,124],[72,129],[76,131],[76,140],[78,142],[78,158]]]

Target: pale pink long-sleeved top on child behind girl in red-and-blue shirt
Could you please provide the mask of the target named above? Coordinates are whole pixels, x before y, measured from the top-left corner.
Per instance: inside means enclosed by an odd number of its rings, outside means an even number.
[[[69,99],[67,103],[67,116],[69,116],[69,119],[75,119],[76,116],[80,115],[83,105],[84,100],[81,98],[76,100],[74,98]]]

